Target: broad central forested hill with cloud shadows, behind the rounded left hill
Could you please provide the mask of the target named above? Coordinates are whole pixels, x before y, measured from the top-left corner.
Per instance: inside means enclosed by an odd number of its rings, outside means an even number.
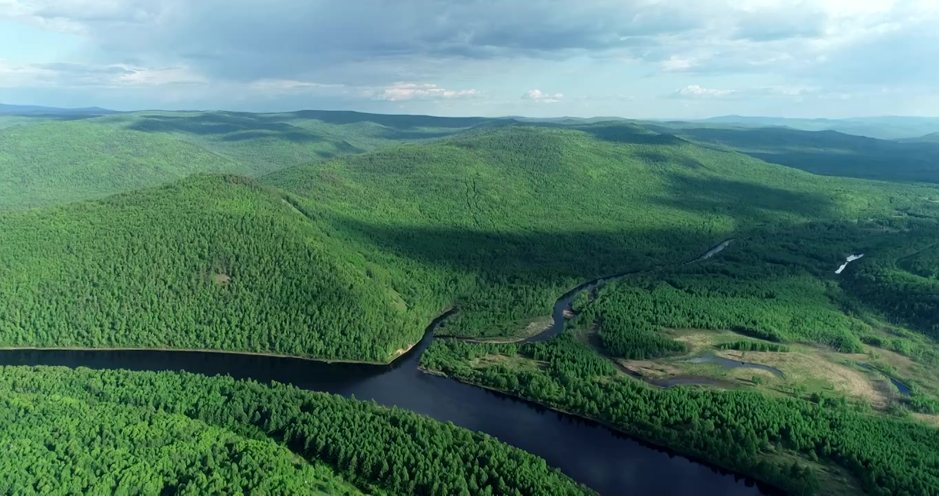
[[[497,126],[264,180],[359,246],[412,306],[455,303],[444,332],[461,335],[516,333],[582,281],[689,260],[755,225],[925,203],[900,186],[812,176],[623,123]],[[816,256],[842,257],[827,250]]]

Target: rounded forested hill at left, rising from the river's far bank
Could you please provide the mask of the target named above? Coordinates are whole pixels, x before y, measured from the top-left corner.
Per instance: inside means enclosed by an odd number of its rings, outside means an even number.
[[[0,346],[229,349],[384,362],[421,336],[280,197],[193,177],[0,213]]]

